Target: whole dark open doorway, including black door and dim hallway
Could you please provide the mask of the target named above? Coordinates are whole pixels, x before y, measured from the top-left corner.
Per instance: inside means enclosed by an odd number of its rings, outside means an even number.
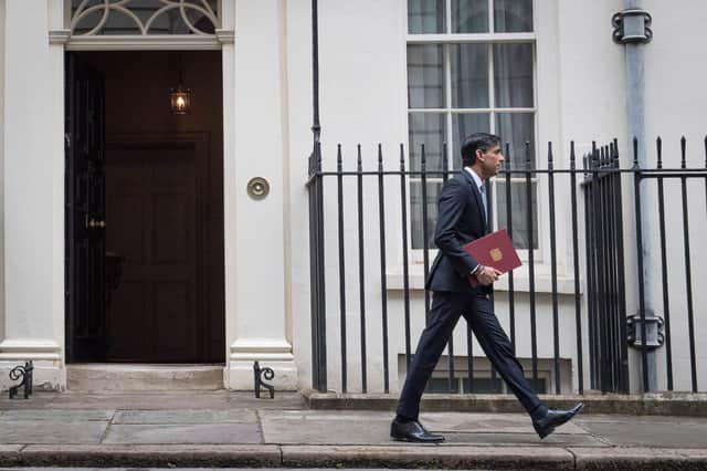
[[[66,63],[67,360],[223,363],[220,52]]]

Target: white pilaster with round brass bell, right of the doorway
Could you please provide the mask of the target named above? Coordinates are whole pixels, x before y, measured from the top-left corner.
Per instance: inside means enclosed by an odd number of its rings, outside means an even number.
[[[275,369],[278,388],[294,388],[297,375],[286,321],[284,200],[287,134],[284,49],[285,2],[239,0],[235,3],[233,151],[224,155],[233,198],[226,224],[226,345],[230,345],[229,385],[252,387],[253,360]],[[230,65],[229,65],[230,66]],[[231,175],[233,171],[233,175]],[[263,177],[270,195],[256,200],[247,182]]]

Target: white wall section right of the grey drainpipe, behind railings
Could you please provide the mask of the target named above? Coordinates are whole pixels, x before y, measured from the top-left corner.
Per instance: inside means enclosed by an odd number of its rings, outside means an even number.
[[[686,160],[688,168],[705,168],[707,149],[705,148],[705,109],[707,109],[707,40],[705,21],[707,7],[701,2],[677,0],[661,2],[647,0],[644,8],[653,17],[653,41],[648,43],[645,54],[646,77],[646,136],[653,140],[663,138],[664,167],[678,168],[680,165],[679,139],[687,139]],[[648,161],[655,165],[655,143],[650,143]],[[655,185],[654,185],[655,188]],[[692,293],[695,321],[695,339],[697,357],[698,387],[705,388],[707,381],[707,321],[704,307],[707,304],[707,292],[701,289],[707,279],[707,247],[700,236],[707,230],[705,211],[706,190],[704,179],[693,179],[687,184],[689,248],[692,261]],[[655,190],[653,197],[655,198]],[[657,203],[656,203],[657,205]],[[671,261],[667,271],[671,302],[668,305],[671,327],[673,332],[672,354],[674,381],[676,390],[689,390],[690,362],[687,336],[687,301],[682,192],[679,180],[665,184],[667,259]],[[656,207],[656,206],[655,206]],[[654,220],[656,237],[653,250],[659,255],[657,239],[658,224]],[[659,259],[651,266],[656,270],[656,287],[662,289]],[[655,306],[659,315],[664,315],[662,292],[655,293]],[[666,348],[658,350],[658,386],[666,387],[665,373]]]

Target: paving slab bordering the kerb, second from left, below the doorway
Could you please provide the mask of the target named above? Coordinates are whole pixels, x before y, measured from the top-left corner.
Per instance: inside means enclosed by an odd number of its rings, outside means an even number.
[[[114,425],[103,443],[261,443],[256,423]]]

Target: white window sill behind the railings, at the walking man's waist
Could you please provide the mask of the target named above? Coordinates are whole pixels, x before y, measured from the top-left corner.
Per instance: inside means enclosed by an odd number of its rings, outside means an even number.
[[[386,273],[386,283],[389,291],[402,291],[403,275],[402,272],[388,272]],[[409,286],[410,291],[423,291],[424,290],[424,274],[418,270],[414,272],[411,270],[409,273]],[[514,292],[527,293],[530,287],[530,278],[527,271],[520,271],[514,273]],[[503,275],[496,283],[494,283],[494,291],[508,291],[508,276]],[[583,286],[580,283],[579,294],[582,294]],[[546,273],[535,274],[535,292],[536,293],[552,293],[552,278]],[[574,278],[560,276],[557,278],[557,292],[558,294],[574,294]]]

